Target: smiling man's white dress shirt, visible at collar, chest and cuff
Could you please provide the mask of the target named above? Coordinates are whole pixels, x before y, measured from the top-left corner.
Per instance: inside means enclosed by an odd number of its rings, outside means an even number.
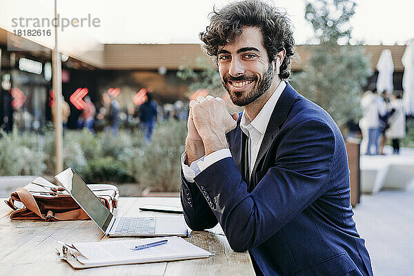
[[[260,110],[259,114],[257,114],[253,121],[248,119],[246,112],[243,112],[242,114],[240,128],[242,128],[242,131],[248,137],[248,156],[250,157],[248,164],[250,175],[253,171],[253,167],[255,166],[257,153],[262,145],[264,133],[266,132],[266,128],[270,120],[270,115],[272,115],[277,100],[280,95],[282,95],[284,88],[286,88],[286,82],[281,81],[275,92],[273,92],[272,96],[270,96],[268,101],[266,101],[262,110]],[[184,161],[186,160],[186,152],[184,152],[181,155],[181,167],[183,169],[184,177],[187,181],[194,182],[194,177],[196,177],[200,172],[226,157],[232,156],[228,148],[223,148],[212,152],[207,156],[203,156],[191,163],[190,166],[187,166],[184,164]]]

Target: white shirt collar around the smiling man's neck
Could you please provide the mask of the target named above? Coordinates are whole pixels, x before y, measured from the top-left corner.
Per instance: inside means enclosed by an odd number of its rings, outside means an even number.
[[[257,114],[253,121],[250,121],[248,119],[246,112],[243,112],[242,119],[240,121],[240,128],[242,128],[243,132],[247,136],[250,137],[249,132],[251,132],[253,128],[257,130],[260,135],[264,135],[270,120],[270,115],[272,115],[277,100],[279,99],[280,95],[282,95],[284,88],[286,88],[286,82],[280,81],[279,86],[277,86],[275,92],[273,92],[272,96],[270,96],[268,101],[266,101],[262,110],[259,111],[259,114]]]

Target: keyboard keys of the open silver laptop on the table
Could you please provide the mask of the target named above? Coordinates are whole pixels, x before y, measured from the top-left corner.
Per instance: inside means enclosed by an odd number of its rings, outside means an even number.
[[[155,217],[120,217],[115,234],[155,234]]]

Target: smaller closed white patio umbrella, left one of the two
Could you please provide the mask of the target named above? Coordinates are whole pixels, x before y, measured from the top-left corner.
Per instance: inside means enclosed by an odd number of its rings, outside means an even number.
[[[391,57],[391,50],[384,49],[381,52],[380,59],[377,62],[378,78],[377,78],[377,91],[378,94],[386,90],[388,95],[393,92],[393,72],[394,63],[393,57]]]

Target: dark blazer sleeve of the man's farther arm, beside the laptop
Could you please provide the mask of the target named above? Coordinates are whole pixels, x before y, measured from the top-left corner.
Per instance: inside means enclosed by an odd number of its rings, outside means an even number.
[[[182,169],[180,198],[188,227],[193,230],[204,230],[216,226],[218,221],[208,202],[197,184],[186,181]]]

